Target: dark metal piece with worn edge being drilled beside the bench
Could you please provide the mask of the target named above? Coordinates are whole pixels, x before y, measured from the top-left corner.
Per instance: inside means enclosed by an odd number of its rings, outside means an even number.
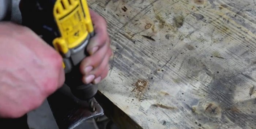
[[[91,112],[89,103],[76,98],[66,85],[50,95],[47,100],[59,129],[74,129],[87,120],[104,115],[95,98],[92,98],[92,101],[96,110]]]

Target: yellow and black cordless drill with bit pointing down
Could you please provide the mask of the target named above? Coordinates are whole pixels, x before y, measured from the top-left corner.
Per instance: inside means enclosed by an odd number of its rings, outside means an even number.
[[[97,85],[85,85],[80,73],[80,62],[94,35],[86,0],[21,0],[22,24],[38,34],[63,57],[65,84],[75,97],[89,101],[97,93]]]

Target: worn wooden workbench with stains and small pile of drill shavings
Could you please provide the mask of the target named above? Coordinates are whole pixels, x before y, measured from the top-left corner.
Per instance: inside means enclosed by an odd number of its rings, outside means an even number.
[[[88,2],[112,39],[99,91],[114,122],[256,129],[256,0]]]

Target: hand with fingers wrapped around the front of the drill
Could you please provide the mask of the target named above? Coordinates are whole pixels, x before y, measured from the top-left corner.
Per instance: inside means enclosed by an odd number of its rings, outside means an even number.
[[[108,62],[112,50],[105,19],[91,9],[90,15],[94,24],[95,36],[90,39],[87,46],[90,56],[82,60],[80,71],[85,84],[97,84],[108,75]]]

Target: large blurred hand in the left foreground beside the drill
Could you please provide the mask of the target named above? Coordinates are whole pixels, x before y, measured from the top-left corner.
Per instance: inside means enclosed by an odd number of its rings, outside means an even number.
[[[18,118],[64,84],[62,57],[33,31],[0,22],[0,117]]]

